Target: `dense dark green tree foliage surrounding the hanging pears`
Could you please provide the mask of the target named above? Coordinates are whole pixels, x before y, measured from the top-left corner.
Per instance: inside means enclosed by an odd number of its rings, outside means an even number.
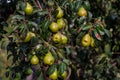
[[[24,11],[26,2],[34,8],[32,15]],[[35,80],[48,80],[57,68],[58,80],[64,71],[67,71],[66,79],[120,79],[119,3],[119,0],[18,0],[7,25],[1,23],[1,48],[7,49],[8,60],[13,57],[7,73],[11,73],[12,80],[24,80],[29,77],[26,70],[31,68]],[[54,43],[55,33],[49,29],[58,20],[58,7],[63,10],[66,24],[58,33],[67,36],[67,44]],[[78,15],[80,7],[84,7],[87,16]],[[30,31],[35,36],[24,42]],[[94,39],[94,46],[81,44],[86,34]],[[45,65],[43,58],[49,51],[55,62]],[[33,55],[39,58],[39,64],[30,63]]]

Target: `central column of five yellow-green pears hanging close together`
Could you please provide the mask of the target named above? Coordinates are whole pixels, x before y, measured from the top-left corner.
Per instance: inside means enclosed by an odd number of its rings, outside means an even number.
[[[56,11],[58,12],[56,15],[57,21],[51,22],[49,29],[53,33],[52,40],[56,44],[66,44],[68,41],[67,36],[63,35],[59,30],[65,28],[66,23],[63,19],[64,12],[63,10],[58,6]]]

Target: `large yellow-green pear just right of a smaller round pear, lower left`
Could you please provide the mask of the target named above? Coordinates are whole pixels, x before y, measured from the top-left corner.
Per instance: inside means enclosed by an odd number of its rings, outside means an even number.
[[[55,61],[55,59],[52,56],[51,52],[48,52],[43,58],[43,62],[46,65],[52,65],[54,63],[54,61]]]

